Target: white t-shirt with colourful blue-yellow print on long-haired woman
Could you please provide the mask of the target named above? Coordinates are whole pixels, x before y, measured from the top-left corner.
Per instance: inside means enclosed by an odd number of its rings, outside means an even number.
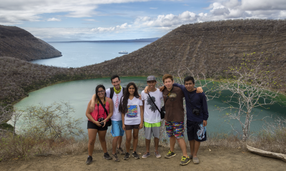
[[[132,100],[128,99],[128,111],[125,113],[124,125],[138,125],[141,123],[140,106],[143,106],[142,100],[139,100],[136,97]]]

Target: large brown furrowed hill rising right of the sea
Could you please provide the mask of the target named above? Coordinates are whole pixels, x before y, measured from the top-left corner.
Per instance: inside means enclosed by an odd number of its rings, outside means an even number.
[[[106,76],[136,76],[160,74],[160,68],[168,72],[184,64],[217,77],[227,67],[240,65],[243,53],[268,51],[274,56],[265,70],[275,70],[272,76],[277,76],[286,72],[285,44],[286,20],[211,21],[182,25],[137,51],[85,69],[97,68],[97,74]]]

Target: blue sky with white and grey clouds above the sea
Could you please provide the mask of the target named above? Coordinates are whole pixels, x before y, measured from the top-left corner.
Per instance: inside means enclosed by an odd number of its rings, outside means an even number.
[[[286,0],[0,0],[0,24],[44,41],[162,37],[182,24],[285,19]]]

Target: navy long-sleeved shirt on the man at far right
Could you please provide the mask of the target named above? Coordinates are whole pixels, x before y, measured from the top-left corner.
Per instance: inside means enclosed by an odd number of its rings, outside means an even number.
[[[208,104],[206,103],[206,95],[203,93],[196,93],[196,90],[188,93],[184,85],[174,83],[174,87],[180,87],[185,95],[187,119],[194,122],[202,122],[208,120]],[[190,97],[190,100],[188,98]],[[193,114],[193,108],[200,109],[200,115]]]

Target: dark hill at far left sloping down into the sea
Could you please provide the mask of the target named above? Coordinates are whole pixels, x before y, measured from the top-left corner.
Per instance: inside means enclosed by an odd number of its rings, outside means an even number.
[[[26,61],[62,56],[61,52],[24,29],[0,25],[0,56]]]

